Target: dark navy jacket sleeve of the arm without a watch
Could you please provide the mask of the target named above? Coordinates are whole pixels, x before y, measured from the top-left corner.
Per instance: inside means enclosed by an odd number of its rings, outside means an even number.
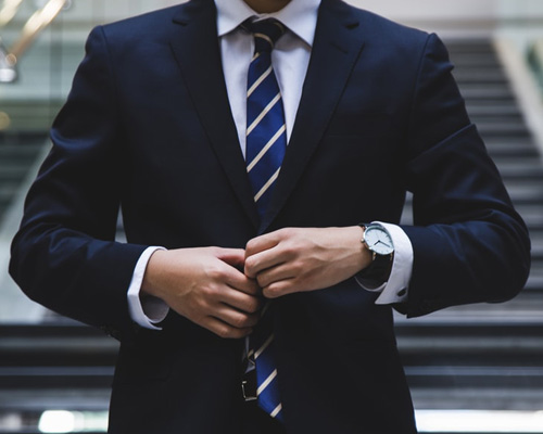
[[[126,293],[147,246],[114,241],[126,143],[101,28],[86,49],[27,195],[10,272],[31,299],[123,339],[134,328]]]

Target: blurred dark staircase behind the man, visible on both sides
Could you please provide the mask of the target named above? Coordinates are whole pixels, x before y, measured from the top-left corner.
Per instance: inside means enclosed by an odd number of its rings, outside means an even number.
[[[397,316],[399,346],[417,409],[541,411],[542,161],[492,44],[457,40],[447,46],[472,120],[530,228],[533,266],[526,290],[509,303],[445,309],[412,320]],[[0,142],[4,203],[16,181],[9,180],[4,188],[3,179],[24,173],[31,159],[28,144],[17,143],[15,150]],[[11,163],[3,163],[8,158]],[[37,433],[46,410],[102,414],[103,420],[116,350],[112,339],[60,317],[39,326],[0,326],[0,433]],[[87,426],[85,432],[103,429]]]

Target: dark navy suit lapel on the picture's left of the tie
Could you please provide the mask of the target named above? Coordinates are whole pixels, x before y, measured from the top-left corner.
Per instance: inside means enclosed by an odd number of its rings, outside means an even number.
[[[191,1],[174,17],[171,46],[210,142],[245,213],[258,215],[228,102],[213,0]]]

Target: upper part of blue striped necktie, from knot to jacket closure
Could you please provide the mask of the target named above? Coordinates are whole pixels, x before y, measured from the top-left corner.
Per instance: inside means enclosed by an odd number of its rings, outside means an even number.
[[[272,67],[272,49],[285,27],[277,20],[243,23],[254,36],[247,91],[247,171],[263,218],[287,149],[281,92]]]

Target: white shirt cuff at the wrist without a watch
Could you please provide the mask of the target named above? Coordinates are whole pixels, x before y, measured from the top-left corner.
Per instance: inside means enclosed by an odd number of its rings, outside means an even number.
[[[168,305],[162,299],[151,295],[140,297],[141,284],[146,273],[147,265],[151,255],[156,251],[163,251],[164,247],[148,247],[143,251],[134,268],[132,279],[128,286],[128,311],[130,318],[137,324],[151,330],[162,330],[155,324],[164,320],[169,311]]]

